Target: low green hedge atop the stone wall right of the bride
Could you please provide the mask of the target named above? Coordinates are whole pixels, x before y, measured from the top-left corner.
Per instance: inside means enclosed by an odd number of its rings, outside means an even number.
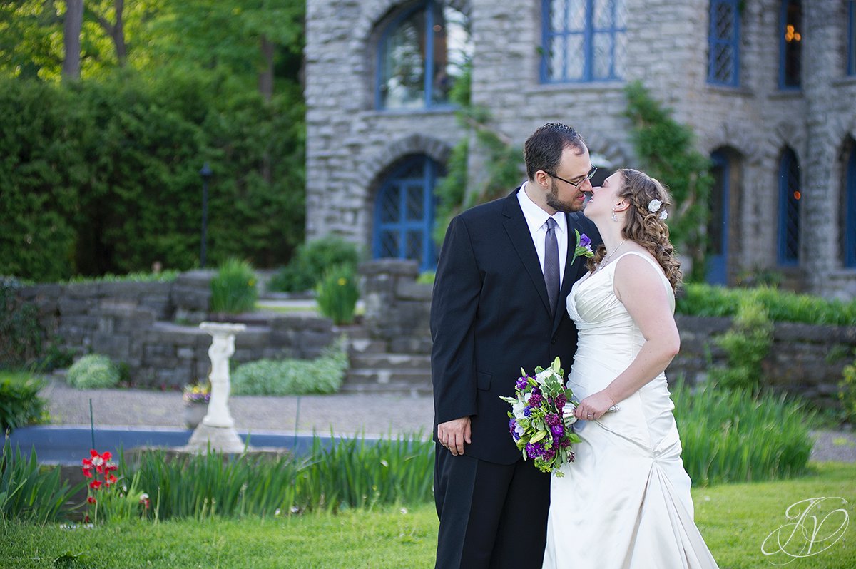
[[[773,322],[856,326],[856,300],[849,303],[776,288],[725,288],[687,283],[676,299],[675,311],[687,316],[734,317],[746,299],[764,306]]]

